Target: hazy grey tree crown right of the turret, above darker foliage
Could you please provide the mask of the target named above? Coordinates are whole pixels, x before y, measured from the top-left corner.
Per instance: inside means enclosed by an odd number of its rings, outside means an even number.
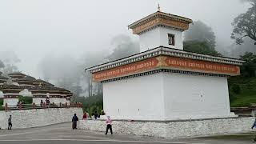
[[[210,46],[210,49],[215,49],[216,46],[216,37],[214,31],[210,26],[207,26],[201,21],[194,22],[190,26],[190,29],[186,31],[184,41],[198,41],[198,42],[207,42]]]

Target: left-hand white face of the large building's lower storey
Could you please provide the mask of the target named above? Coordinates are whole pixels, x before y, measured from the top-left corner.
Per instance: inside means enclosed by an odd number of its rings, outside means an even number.
[[[164,119],[162,74],[103,83],[106,115],[115,119]]]

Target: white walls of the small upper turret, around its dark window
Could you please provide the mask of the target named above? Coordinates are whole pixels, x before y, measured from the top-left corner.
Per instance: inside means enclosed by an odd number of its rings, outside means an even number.
[[[168,34],[174,34],[175,45],[168,43]],[[158,27],[146,33],[139,35],[140,52],[156,48],[158,46],[166,46],[178,50],[183,50],[183,34],[182,31]]]

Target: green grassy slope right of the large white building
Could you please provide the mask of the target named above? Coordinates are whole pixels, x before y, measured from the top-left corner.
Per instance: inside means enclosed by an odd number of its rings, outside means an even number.
[[[229,84],[237,84],[241,88],[239,94],[234,94],[230,90],[231,107],[250,106],[251,103],[256,103],[256,78],[231,78]]]

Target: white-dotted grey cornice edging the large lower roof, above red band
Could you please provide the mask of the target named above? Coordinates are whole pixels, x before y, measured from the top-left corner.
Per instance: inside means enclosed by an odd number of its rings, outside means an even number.
[[[192,53],[184,50],[177,50],[169,47],[159,46],[157,48],[147,50],[142,53],[134,54],[126,58],[118,59],[112,62],[106,62],[98,66],[93,66],[93,67],[87,68],[86,70],[90,71],[90,73],[96,73],[102,70],[109,70],[114,67],[142,61],[147,58],[153,58],[159,55],[195,59],[195,60],[201,60],[206,62],[218,62],[218,63],[230,64],[235,66],[242,66],[242,63],[245,62],[236,58],[215,57],[215,56],[206,55],[206,54],[197,54],[197,53]]]

